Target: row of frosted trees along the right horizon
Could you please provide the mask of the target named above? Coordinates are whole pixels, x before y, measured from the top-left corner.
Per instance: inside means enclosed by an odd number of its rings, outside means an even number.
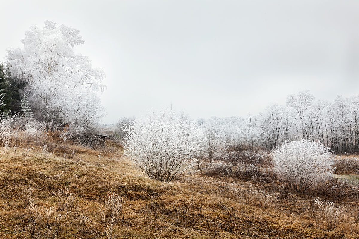
[[[359,96],[321,101],[309,91],[300,91],[289,95],[286,105],[269,105],[258,115],[213,117],[199,124],[207,132],[217,128],[214,137],[239,149],[273,149],[288,140],[309,139],[335,153],[359,152]]]

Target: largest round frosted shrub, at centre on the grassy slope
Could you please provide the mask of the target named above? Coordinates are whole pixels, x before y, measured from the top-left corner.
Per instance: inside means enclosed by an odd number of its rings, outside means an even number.
[[[144,175],[171,181],[186,172],[200,156],[198,125],[172,110],[149,113],[125,126],[125,155]]]

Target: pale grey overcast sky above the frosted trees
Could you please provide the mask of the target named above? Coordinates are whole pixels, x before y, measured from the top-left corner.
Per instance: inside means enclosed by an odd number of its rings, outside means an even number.
[[[104,123],[171,103],[193,118],[245,116],[298,90],[358,95],[358,13],[358,0],[1,0],[0,61],[55,20],[106,72]]]

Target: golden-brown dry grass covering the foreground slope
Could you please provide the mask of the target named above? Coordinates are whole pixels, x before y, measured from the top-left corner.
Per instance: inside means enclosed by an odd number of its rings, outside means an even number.
[[[139,175],[115,143],[103,150],[53,138],[46,144],[50,154],[24,145],[1,154],[0,238],[355,238],[359,233],[356,199],[343,202],[345,214],[328,231],[312,196],[286,192],[268,199],[279,192],[278,182],[192,173],[164,183]],[[123,218],[104,218],[111,195],[122,197]]]

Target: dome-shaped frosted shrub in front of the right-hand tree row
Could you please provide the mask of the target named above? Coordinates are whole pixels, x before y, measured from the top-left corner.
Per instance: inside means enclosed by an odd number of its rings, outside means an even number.
[[[332,178],[334,160],[328,148],[305,139],[286,142],[273,152],[274,169],[296,192]]]

